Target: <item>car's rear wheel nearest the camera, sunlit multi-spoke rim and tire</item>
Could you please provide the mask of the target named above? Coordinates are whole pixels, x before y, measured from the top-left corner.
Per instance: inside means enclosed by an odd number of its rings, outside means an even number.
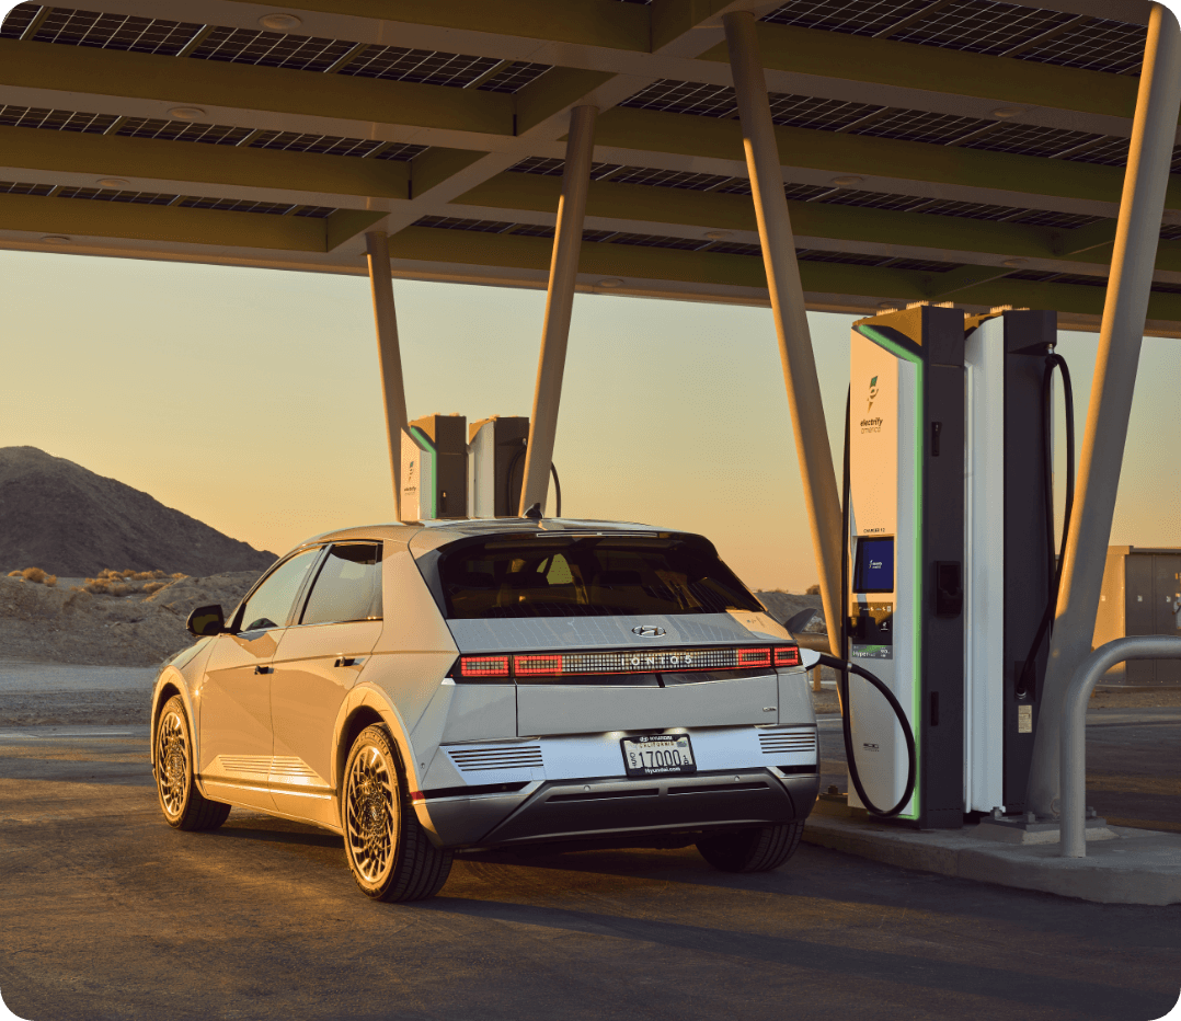
[[[451,872],[450,851],[436,847],[410,804],[390,732],[366,727],[353,741],[341,785],[340,823],[348,871],[374,901],[425,901]]]

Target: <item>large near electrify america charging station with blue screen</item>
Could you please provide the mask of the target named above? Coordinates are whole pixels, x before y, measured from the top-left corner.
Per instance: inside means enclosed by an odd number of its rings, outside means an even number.
[[[929,305],[853,326],[842,641],[906,714],[914,784],[895,817],[924,829],[1024,811],[1061,580],[1050,397],[1059,368],[1069,402],[1069,373],[1056,333],[1052,312]],[[888,814],[908,771],[895,712],[859,676],[842,701],[849,804]]]

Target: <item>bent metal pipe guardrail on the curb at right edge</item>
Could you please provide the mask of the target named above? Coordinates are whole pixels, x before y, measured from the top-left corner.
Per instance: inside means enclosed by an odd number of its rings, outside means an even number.
[[[1124,660],[1181,660],[1181,637],[1136,635],[1100,646],[1075,670],[1062,703],[1062,857],[1087,857],[1087,702]]]

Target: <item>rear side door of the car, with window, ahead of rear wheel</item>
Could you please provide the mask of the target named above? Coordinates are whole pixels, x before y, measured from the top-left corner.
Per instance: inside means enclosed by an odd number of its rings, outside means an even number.
[[[380,633],[381,544],[334,543],[274,657],[269,786],[283,814],[339,825],[333,729]]]

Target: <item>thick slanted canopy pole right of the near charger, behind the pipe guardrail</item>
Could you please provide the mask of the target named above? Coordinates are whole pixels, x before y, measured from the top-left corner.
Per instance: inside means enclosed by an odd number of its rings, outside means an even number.
[[[1179,105],[1181,30],[1167,7],[1153,4],[1087,411],[1078,492],[1033,739],[1027,807],[1042,817],[1057,814],[1063,701],[1075,670],[1091,652],[1095,634]]]

